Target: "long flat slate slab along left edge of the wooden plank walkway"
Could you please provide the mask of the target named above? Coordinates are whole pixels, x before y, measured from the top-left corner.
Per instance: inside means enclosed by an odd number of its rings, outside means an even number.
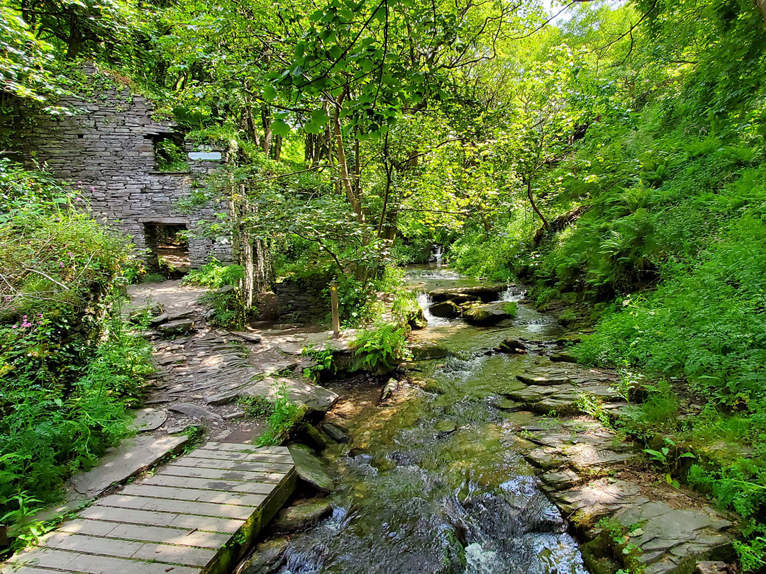
[[[112,484],[123,484],[128,478],[149,468],[163,457],[178,452],[188,436],[136,436],[123,441],[113,452],[104,456],[99,465],[72,478],[74,489],[80,494],[96,497]]]

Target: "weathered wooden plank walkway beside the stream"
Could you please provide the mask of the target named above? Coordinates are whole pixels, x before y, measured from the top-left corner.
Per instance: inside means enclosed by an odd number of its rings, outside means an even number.
[[[286,447],[208,442],[96,501],[2,574],[225,574],[292,494]]]

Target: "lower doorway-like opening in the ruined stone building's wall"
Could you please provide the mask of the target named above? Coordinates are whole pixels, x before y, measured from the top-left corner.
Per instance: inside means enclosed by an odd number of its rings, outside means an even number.
[[[184,223],[144,223],[146,270],[168,279],[181,279],[189,272],[188,230]]]

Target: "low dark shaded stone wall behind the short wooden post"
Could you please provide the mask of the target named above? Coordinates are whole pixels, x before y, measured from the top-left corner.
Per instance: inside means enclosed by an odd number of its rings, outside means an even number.
[[[330,310],[329,295],[322,293],[332,278],[300,279],[288,277],[274,286],[280,321],[324,322]]]

